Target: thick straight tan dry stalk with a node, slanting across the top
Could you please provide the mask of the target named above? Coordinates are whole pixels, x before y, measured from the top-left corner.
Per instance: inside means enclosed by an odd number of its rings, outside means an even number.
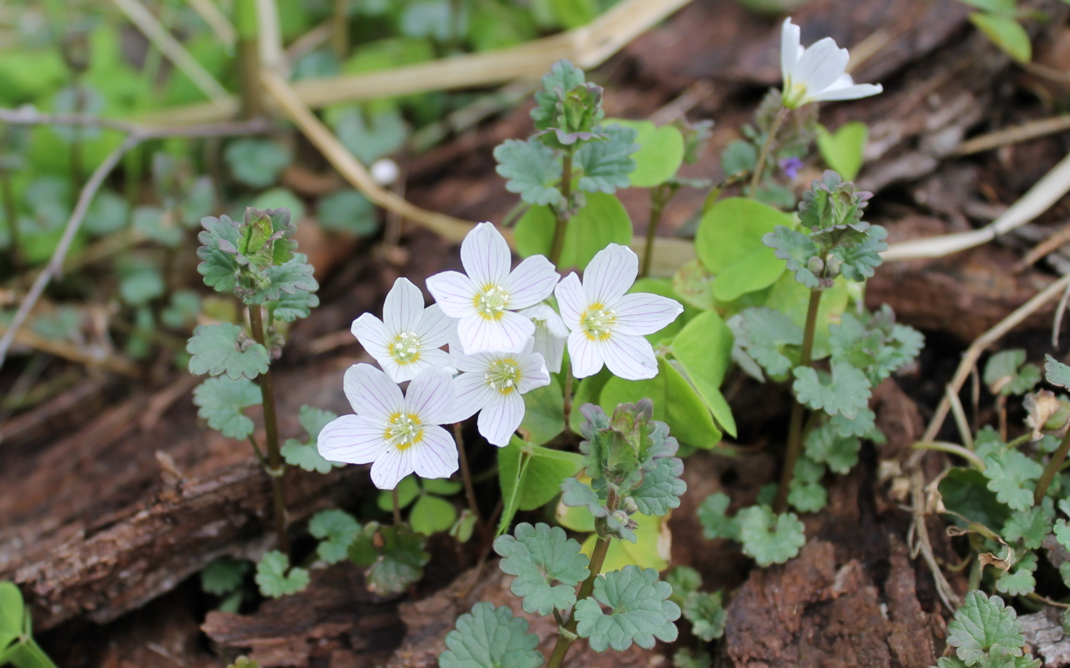
[[[586,26],[519,46],[381,72],[297,81],[293,90],[306,106],[318,108],[541,76],[562,59],[580,67],[594,67],[689,1],[624,0]],[[160,125],[207,123],[231,118],[236,110],[238,102],[228,98],[162,111],[141,120]]]

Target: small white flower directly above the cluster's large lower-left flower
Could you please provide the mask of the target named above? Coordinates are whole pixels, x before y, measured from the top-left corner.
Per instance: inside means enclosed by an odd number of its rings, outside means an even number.
[[[428,367],[449,367],[449,355],[439,348],[453,327],[438,305],[424,308],[419,288],[399,278],[386,294],[383,320],[365,313],[353,321],[353,336],[395,383],[403,383]]]

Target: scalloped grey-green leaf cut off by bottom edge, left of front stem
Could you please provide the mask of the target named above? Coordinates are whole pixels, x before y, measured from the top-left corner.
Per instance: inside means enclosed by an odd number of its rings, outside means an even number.
[[[457,618],[446,635],[441,668],[538,668],[542,654],[535,650],[538,636],[528,633],[528,620],[513,617],[506,606],[486,601]]]

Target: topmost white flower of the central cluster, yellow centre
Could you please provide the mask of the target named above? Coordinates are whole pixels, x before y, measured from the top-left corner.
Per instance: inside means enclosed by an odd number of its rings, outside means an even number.
[[[550,296],[557,271],[542,255],[528,258],[509,273],[509,246],[489,222],[480,222],[461,244],[468,276],[443,271],[427,279],[427,289],[442,311],[459,317],[458,336],[464,353],[519,353],[532,335],[531,320],[514,313]]]

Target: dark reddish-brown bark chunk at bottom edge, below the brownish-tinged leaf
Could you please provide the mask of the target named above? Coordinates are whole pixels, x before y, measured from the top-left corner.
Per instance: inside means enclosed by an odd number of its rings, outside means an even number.
[[[262,668],[307,668],[312,661],[330,668],[381,666],[404,634],[396,599],[369,593],[348,561],[314,570],[304,591],[268,601],[256,615],[209,612],[201,630]]]

